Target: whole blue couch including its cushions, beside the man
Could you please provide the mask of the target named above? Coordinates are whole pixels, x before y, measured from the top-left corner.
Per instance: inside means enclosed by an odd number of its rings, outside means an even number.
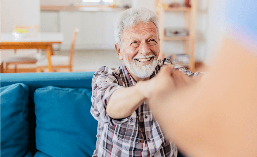
[[[1,157],[92,156],[93,75],[1,73]]]

